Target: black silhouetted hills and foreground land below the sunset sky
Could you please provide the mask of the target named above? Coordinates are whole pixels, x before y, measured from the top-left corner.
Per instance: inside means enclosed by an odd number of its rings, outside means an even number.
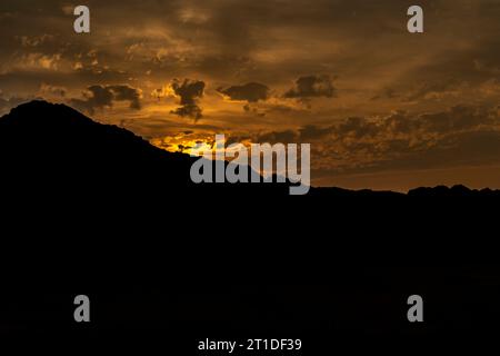
[[[192,185],[192,161],[66,106],[2,117],[0,333],[181,354],[206,337],[302,337],[331,354],[362,338],[498,334],[499,191],[290,197],[278,184]],[[78,294],[88,325],[73,320]],[[407,320],[413,294],[420,325]]]

